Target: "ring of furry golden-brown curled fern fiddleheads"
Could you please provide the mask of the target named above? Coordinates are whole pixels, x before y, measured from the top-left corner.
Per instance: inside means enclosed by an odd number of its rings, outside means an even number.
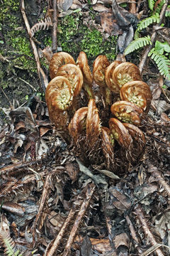
[[[98,55],[91,73],[84,52],[77,63],[68,53],[55,53],[50,77],[45,93],[50,119],[72,138],[75,154],[119,173],[140,159],[145,135],[139,127],[152,93],[136,65],[110,63],[105,55]],[[86,97],[85,106],[82,97]]]

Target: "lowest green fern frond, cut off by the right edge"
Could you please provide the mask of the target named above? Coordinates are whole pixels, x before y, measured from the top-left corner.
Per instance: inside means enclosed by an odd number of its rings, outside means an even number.
[[[170,60],[165,55],[158,53],[154,48],[152,48],[148,56],[157,64],[160,74],[170,80]]]

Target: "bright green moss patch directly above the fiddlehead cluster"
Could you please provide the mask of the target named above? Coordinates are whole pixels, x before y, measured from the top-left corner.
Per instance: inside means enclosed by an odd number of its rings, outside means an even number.
[[[95,14],[90,14],[94,19]],[[83,50],[90,60],[94,60],[99,54],[106,55],[110,60],[115,59],[117,37],[104,39],[96,28],[88,28],[83,24],[81,13],[59,18],[57,29],[57,45],[74,58]],[[45,46],[51,46],[51,43],[51,37],[44,39]]]

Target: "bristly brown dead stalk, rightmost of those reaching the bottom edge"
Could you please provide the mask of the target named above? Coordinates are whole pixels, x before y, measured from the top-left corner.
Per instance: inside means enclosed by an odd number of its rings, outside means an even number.
[[[137,208],[135,208],[135,214],[137,215],[137,218],[140,220],[140,223],[142,224],[142,228],[147,239],[149,239],[152,245],[157,245],[157,241],[155,240],[154,235],[152,235],[152,232],[149,229],[149,225],[147,223],[147,220],[145,220],[145,216],[140,206],[137,206]],[[157,253],[157,256],[164,256],[162,250],[159,248],[155,249],[155,252]]]

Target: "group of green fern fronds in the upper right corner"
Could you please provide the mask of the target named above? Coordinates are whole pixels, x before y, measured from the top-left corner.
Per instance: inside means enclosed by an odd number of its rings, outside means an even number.
[[[143,19],[137,24],[137,30],[135,31],[135,36],[134,36],[135,39],[125,49],[125,55],[128,55],[129,53],[132,53],[133,51],[138,50],[139,48],[142,48],[144,46],[152,45],[150,36],[148,35],[148,36],[140,37],[140,32],[145,28],[148,28],[152,24],[160,23],[159,13],[162,9],[162,6],[165,0],[162,0],[158,4],[157,9],[155,9],[154,11],[155,2],[156,1],[154,0],[148,0],[148,5],[149,5],[151,15]],[[165,16],[170,16],[169,9],[166,10]],[[169,43],[167,43],[166,41],[164,43],[160,41],[156,41],[154,47],[152,48],[152,50],[150,50],[148,55],[157,64],[157,68],[159,69],[159,72],[161,73],[161,75],[164,75],[165,78],[170,80],[169,53],[170,53]]]

